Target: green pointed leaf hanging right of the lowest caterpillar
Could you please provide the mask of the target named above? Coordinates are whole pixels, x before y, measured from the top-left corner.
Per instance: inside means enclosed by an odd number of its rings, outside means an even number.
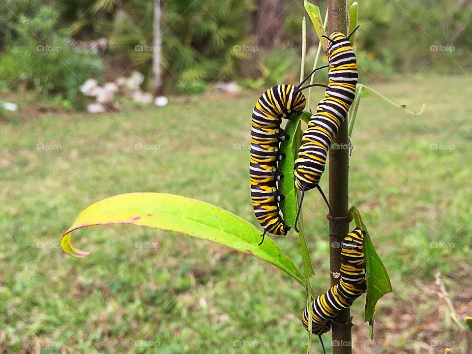
[[[354,218],[355,226],[365,231],[364,253],[366,263],[367,295],[365,298],[364,321],[369,322],[372,327],[371,339],[374,337],[374,312],[375,305],[379,299],[391,293],[392,284],[388,277],[387,270],[383,265],[379,255],[375,251],[374,244],[370,238],[367,227],[356,207],[351,207],[349,215]]]

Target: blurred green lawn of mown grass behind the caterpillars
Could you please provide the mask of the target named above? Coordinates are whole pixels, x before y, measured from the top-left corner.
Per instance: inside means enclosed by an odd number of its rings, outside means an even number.
[[[433,340],[454,341],[454,354],[467,352],[464,332],[435,294],[434,274],[441,270],[458,314],[472,315],[470,78],[410,80],[372,87],[413,110],[426,102],[423,115],[364,98],[354,127],[350,203],[394,287],[379,303],[374,344],[362,323],[364,296],[354,304],[354,353],[369,346],[414,353],[416,343]],[[79,248],[94,251],[86,259],[59,249],[60,235],[82,209],[133,191],[197,198],[256,223],[248,143],[257,98],[207,95],[161,109],[1,122],[0,352],[303,353],[303,288],[253,257],[129,225],[78,234]],[[322,186],[326,191],[327,176]],[[319,194],[307,194],[319,292],[329,283],[325,214]],[[301,268],[297,239],[291,233],[277,242]]]

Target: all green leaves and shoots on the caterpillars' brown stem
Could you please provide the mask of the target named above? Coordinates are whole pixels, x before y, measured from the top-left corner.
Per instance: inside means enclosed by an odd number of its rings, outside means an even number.
[[[313,65],[313,68],[315,68],[322,47],[324,49],[327,47],[327,41],[324,37],[326,35],[325,25],[327,16],[323,21],[317,6],[307,1],[305,1],[304,4],[320,39]],[[347,13],[349,20],[348,32],[353,31],[357,26],[357,13],[358,5],[357,2],[354,2]],[[354,35],[350,38],[352,44],[354,44],[354,38]],[[303,19],[300,78],[304,77],[305,51],[306,24],[305,19]],[[313,84],[313,76],[310,84]],[[350,138],[353,135],[354,122],[360,101],[365,97],[375,97],[408,111],[405,106],[398,105],[388,100],[374,89],[358,83],[355,89],[354,102],[349,110],[347,121],[343,123],[348,124],[348,134]],[[310,92],[307,94],[306,107],[310,107]],[[408,111],[408,113],[415,115],[421,114],[421,112]],[[284,128],[289,139],[283,141],[280,146],[280,151],[285,154],[285,158],[279,164],[280,173],[285,176],[285,178],[279,182],[280,192],[285,196],[284,201],[281,203],[281,210],[285,222],[292,228],[295,227],[295,217],[298,211],[300,195],[295,188],[294,178],[290,176],[294,174],[295,159],[297,158],[298,148],[301,145],[302,122],[308,122],[311,116],[312,114],[310,112],[302,112],[294,115]],[[250,118],[248,117],[248,126],[249,120]],[[354,221],[356,228],[365,232],[364,253],[367,295],[365,300],[364,321],[371,325],[371,338],[373,338],[373,318],[376,303],[383,295],[391,292],[392,288],[386,269],[375,251],[368,228],[359,211],[353,206],[349,209],[347,216],[350,221]],[[60,242],[63,251],[77,258],[89,256],[91,252],[82,251],[74,246],[71,241],[72,232],[88,226],[111,224],[131,224],[156,228],[219,243],[249,256],[256,257],[261,261],[270,263],[283,271],[287,276],[292,277],[305,289],[307,306],[310,306],[313,297],[318,295],[310,286],[310,278],[313,276],[314,270],[304,233],[305,224],[302,215],[300,215],[297,224],[299,231],[298,242],[302,258],[301,269],[284,253],[275,240],[269,236],[266,236],[264,242],[259,245],[261,230],[249,221],[220,207],[185,196],[167,193],[140,192],[120,194],[92,204],[79,214],[77,219],[63,234]],[[296,315],[296,317],[298,317],[298,314]],[[301,324],[300,330],[304,330]],[[311,331],[308,333],[306,349],[307,353],[310,353]]]

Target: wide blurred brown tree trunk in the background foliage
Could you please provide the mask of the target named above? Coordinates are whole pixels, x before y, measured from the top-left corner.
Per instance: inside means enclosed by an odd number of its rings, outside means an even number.
[[[264,48],[272,48],[282,40],[284,34],[283,0],[258,0],[254,32],[257,44]]]

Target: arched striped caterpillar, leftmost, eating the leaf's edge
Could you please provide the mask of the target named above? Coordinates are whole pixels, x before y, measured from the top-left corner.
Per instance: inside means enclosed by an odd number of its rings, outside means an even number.
[[[314,69],[300,84],[277,85],[264,92],[252,111],[251,128],[251,160],[249,175],[251,180],[251,198],[254,213],[264,229],[261,235],[264,242],[266,233],[287,235],[290,226],[286,225],[280,214],[279,203],[284,196],[277,188],[277,182],[283,175],[278,172],[277,164],[284,158],[279,151],[280,142],[288,138],[281,128],[282,118],[291,119],[291,116],[300,113],[305,108],[306,99],[303,89],[300,89],[306,80],[315,71],[326,68],[327,65]]]

